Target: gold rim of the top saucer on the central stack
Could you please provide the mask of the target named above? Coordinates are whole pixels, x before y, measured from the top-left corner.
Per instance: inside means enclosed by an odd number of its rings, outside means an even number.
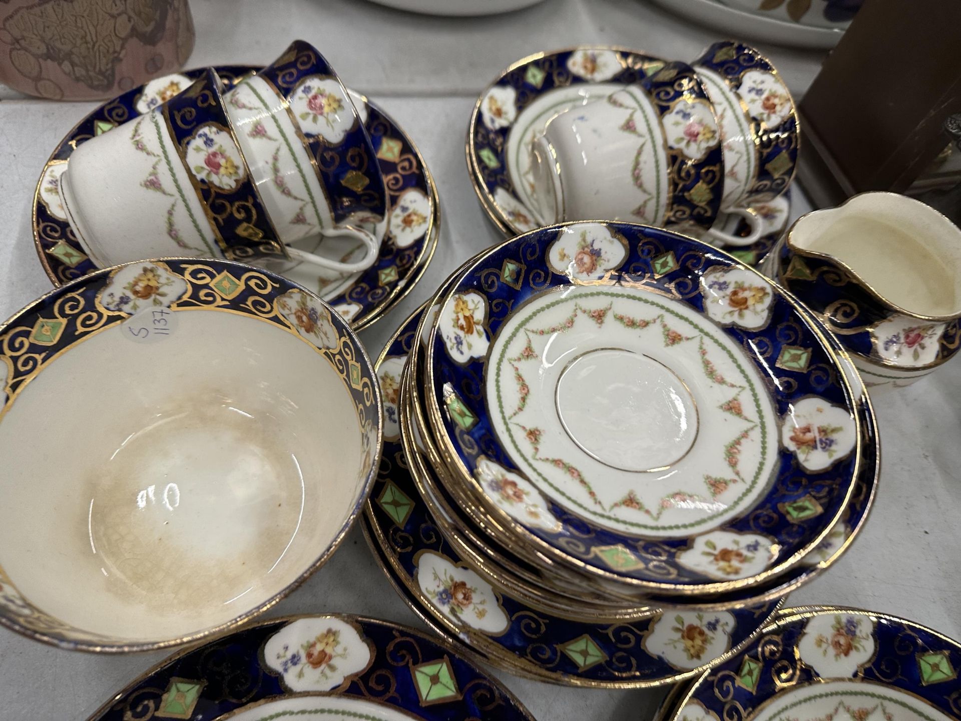
[[[573,221],[573,222],[567,222],[567,223],[557,223],[555,225],[548,226],[548,228],[554,231],[554,230],[560,230],[561,228],[565,228],[571,225],[580,225],[582,223],[597,223],[604,226],[610,225],[608,221],[602,221],[602,220]],[[618,223],[617,225],[627,225],[627,226],[632,226],[638,229],[646,229],[650,227],[650,226],[642,226],[635,223]],[[658,230],[658,232],[660,232],[659,229],[654,229],[654,230]],[[488,258],[489,256],[498,253],[510,243],[518,242],[522,238],[530,236],[534,233],[543,233],[544,231],[545,229],[543,228],[530,231],[530,233],[524,234],[522,236],[517,236],[516,238],[505,240],[503,243],[493,246],[492,248],[488,248],[487,250],[480,253],[478,256],[475,257],[475,259],[473,259],[468,263],[469,266],[466,267],[465,270],[462,270],[459,273],[460,277],[456,279],[456,282],[451,286],[450,290],[447,290],[444,287],[440,289],[440,291],[431,299],[431,305],[429,306],[429,308],[432,308],[434,305],[440,305],[440,307],[443,308],[443,306],[446,305],[446,303],[450,300],[450,297],[453,295],[453,292],[456,290],[456,286],[458,285],[460,279],[466,276],[470,272],[471,268],[476,266],[478,263],[486,260],[486,258]],[[690,241],[700,243],[700,241],[697,241],[694,238],[683,236],[682,234],[677,234],[677,235],[684,237],[685,239],[688,239]],[[763,276],[759,271],[752,268],[750,265],[747,265],[746,263],[738,261],[736,258],[734,258],[729,253],[727,253],[727,251],[724,251],[720,248],[714,248],[713,246],[709,246],[709,247],[710,247],[711,253],[720,254],[723,257],[727,258],[728,261],[731,261],[733,263],[734,267],[747,268],[752,273],[757,275],[758,278],[763,279],[765,283],[769,283],[769,284],[771,283],[770,279]],[[629,285],[629,284],[625,284],[625,285]],[[799,308],[802,308],[798,300],[791,293],[785,291],[780,286],[776,286],[776,284],[774,285],[774,287],[778,292],[780,292],[781,296],[788,303],[788,305],[790,305],[793,309],[795,309],[795,311],[798,311]],[[845,391],[845,395],[849,399],[850,406],[856,406],[856,401],[854,400],[855,393],[853,391],[853,388],[850,385],[850,381],[848,380],[847,376],[843,372],[841,359],[837,356],[833,346],[826,339],[822,331],[817,327],[815,327],[815,325],[813,325],[810,322],[808,314],[803,310],[800,311],[800,314],[801,314],[801,318],[805,319],[806,321],[805,325],[808,326],[808,330],[819,341],[819,344],[825,350],[825,354],[828,360],[833,361],[832,364],[834,365],[834,367],[837,368],[839,371],[841,371],[839,373],[840,385],[842,389]],[[427,314],[425,314],[425,318],[426,317],[427,317]],[[439,317],[439,313],[438,313],[438,317]],[[424,319],[421,320],[421,326],[423,325],[424,325]],[[421,326],[419,326],[419,328]],[[427,347],[427,356],[426,356],[426,364],[425,364],[427,376],[425,377],[425,379],[423,379],[425,382],[425,387],[427,388],[433,388],[436,383],[433,377],[433,372],[432,372],[433,371],[433,367],[432,367],[433,366],[433,349],[434,349],[433,338],[436,335],[436,326],[437,326],[437,322],[434,321],[431,324],[431,336],[430,336],[431,339],[428,342],[428,347]],[[461,482],[466,482],[466,485],[468,485],[473,489],[475,495],[479,494],[480,497],[484,499],[484,509],[487,510],[488,513],[491,513],[494,516],[496,516],[499,519],[501,525],[505,525],[506,527],[512,529],[514,533],[516,535],[519,535],[519,537],[523,538],[526,543],[531,543],[533,547],[546,552],[549,556],[554,557],[555,559],[559,560],[561,563],[564,563],[565,565],[573,566],[578,570],[585,571],[589,576],[599,576],[609,581],[615,581],[618,583],[627,584],[628,586],[633,586],[634,588],[638,588],[638,589],[659,591],[659,592],[665,593],[666,595],[710,596],[710,595],[722,594],[728,591],[740,590],[742,588],[749,588],[751,586],[762,584],[767,579],[780,575],[781,573],[791,568],[792,566],[797,565],[808,552],[813,550],[818,544],[821,543],[822,540],[824,540],[825,536],[828,534],[831,527],[835,523],[837,523],[841,515],[844,513],[844,510],[847,508],[848,504],[850,503],[850,497],[854,487],[853,482],[848,485],[848,488],[844,495],[844,499],[842,500],[838,511],[834,514],[834,516],[830,519],[830,521],[825,524],[824,528],[819,534],[815,535],[815,537],[807,545],[805,545],[804,547],[796,551],[791,557],[789,557],[788,559],[782,560],[776,566],[773,566],[762,573],[755,574],[754,576],[749,577],[747,579],[740,579],[737,581],[715,582],[710,584],[685,584],[683,586],[678,586],[677,584],[663,584],[661,582],[642,581],[640,579],[633,579],[633,578],[628,578],[625,576],[619,576],[619,575],[613,574],[603,568],[589,565],[580,559],[576,559],[574,557],[568,556],[560,549],[542,540],[540,537],[531,534],[530,531],[527,531],[523,526],[521,526],[519,523],[517,523],[512,518],[510,518],[510,516],[508,516],[504,510],[501,510],[500,508],[498,508],[496,504],[486,501],[483,495],[482,488],[478,486],[472,474],[470,474],[466,466],[464,466],[463,461],[457,455],[457,451],[452,440],[447,435],[446,430],[444,429],[443,416],[440,412],[440,409],[437,406],[436,399],[432,392],[428,394],[427,402],[428,402],[427,414],[430,420],[429,427],[431,428],[431,432],[434,435],[435,440],[438,440],[441,444],[440,451],[442,452],[444,459],[447,461],[447,465],[452,470],[456,469],[456,477],[460,479]],[[861,418],[856,412],[854,413],[854,427],[855,427],[854,430],[856,435],[856,442],[855,442],[855,447],[852,451],[855,459],[854,467],[851,472],[852,478],[855,478],[860,472],[861,455],[862,455],[861,452],[862,452],[862,444],[863,444],[862,422],[861,422]]]

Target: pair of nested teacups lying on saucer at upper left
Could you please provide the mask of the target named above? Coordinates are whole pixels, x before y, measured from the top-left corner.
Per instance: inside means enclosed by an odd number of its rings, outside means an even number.
[[[211,68],[77,148],[60,192],[87,255],[101,267],[171,256],[370,267],[386,191],[363,119],[330,64],[298,40],[223,87]]]

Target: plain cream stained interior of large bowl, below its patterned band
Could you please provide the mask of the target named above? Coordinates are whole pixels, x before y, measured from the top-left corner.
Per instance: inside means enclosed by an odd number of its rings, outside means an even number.
[[[160,342],[86,336],[0,418],[0,567],[87,634],[178,638],[258,608],[366,487],[335,354],[250,314],[187,310]]]

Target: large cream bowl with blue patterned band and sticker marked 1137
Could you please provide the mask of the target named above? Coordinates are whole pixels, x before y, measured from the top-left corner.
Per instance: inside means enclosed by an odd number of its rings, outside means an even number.
[[[169,259],[62,286],[0,327],[0,622],[97,652],[233,628],[330,558],[381,439],[357,336],[278,275]]]

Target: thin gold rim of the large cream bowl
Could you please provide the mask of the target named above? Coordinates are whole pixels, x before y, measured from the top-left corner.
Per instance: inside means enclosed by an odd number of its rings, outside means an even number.
[[[228,265],[239,266],[244,268],[247,271],[254,271],[256,273],[267,272],[270,275],[277,275],[276,273],[271,273],[270,271],[264,271],[262,268],[255,267],[253,265],[246,265],[244,263],[240,263],[237,261],[226,261],[222,259],[168,257],[168,258],[147,259],[144,261],[133,261],[128,263],[122,263],[120,265],[112,265],[109,268],[101,268],[92,273],[87,273],[85,276],[81,276],[80,278],[74,281],[71,281],[70,283],[64,284],[63,286],[55,287],[52,290],[41,295],[32,303],[27,304],[19,311],[14,312],[7,320],[5,320],[3,323],[0,323],[0,336],[2,336],[4,332],[6,332],[8,327],[10,327],[10,325],[16,318],[20,317],[24,313],[33,311],[34,308],[36,308],[38,305],[40,305],[41,303],[46,301],[48,298],[54,295],[57,295],[60,293],[65,294],[67,290],[69,288],[72,288],[73,286],[81,286],[81,285],[90,283],[91,281],[97,279],[100,276],[109,276],[113,274],[115,271],[119,270],[120,268],[126,267],[128,265],[136,265],[138,263],[143,263],[143,262],[166,263],[168,261],[187,262],[187,263],[194,263],[194,262],[203,263],[203,262],[212,261],[212,262],[219,262],[219,263],[227,263]],[[308,290],[308,288],[306,287],[299,286],[296,283],[292,283],[291,281],[288,281],[286,279],[283,279],[283,280],[285,283],[289,283],[291,286],[294,286],[300,289],[302,292],[306,293],[308,297],[313,298],[314,300],[320,301],[324,305],[324,307],[326,307],[328,311],[331,312],[332,315],[337,315],[337,312],[332,311],[330,305],[328,305],[326,301],[322,300],[316,293]],[[381,397],[381,384],[377,380],[376,366],[370,360],[370,357],[367,355],[367,349],[364,347],[363,343],[360,342],[360,339],[357,338],[357,334],[351,328],[350,324],[344,318],[340,318],[339,320],[341,323],[343,323],[344,328],[347,330],[348,337],[350,337],[353,340],[354,345],[357,348],[358,358],[360,361],[362,361],[360,363],[361,368],[366,367],[370,369],[373,373],[373,383],[371,385],[374,386],[374,395],[375,395],[374,406],[377,409],[382,409],[383,400]],[[284,598],[286,598],[291,592],[293,592],[302,584],[304,584],[304,582],[306,582],[308,578],[310,578],[310,576],[312,576],[317,570],[320,569],[321,566],[323,566],[325,563],[327,563],[328,560],[331,559],[331,557],[333,556],[333,553],[340,547],[340,544],[343,543],[344,538],[347,536],[348,532],[354,527],[354,524],[357,522],[357,517],[360,515],[360,511],[363,509],[364,502],[367,500],[367,497],[370,495],[370,489],[374,486],[374,482],[377,480],[377,471],[381,463],[382,450],[383,450],[383,413],[381,412],[377,419],[377,440],[376,440],[376,448],[374,450],[373,462],[371,464],[370,470],[367,472],[367,478],[364,482],[366,490],[358,496],[357,504],[355,505],[354,509],[351,510],[350,514],[344,519],[344,524],[342,528],[337,533],[337,535],[333,537],[331,544],[328,546],[328,548],[324,551],[323,554],[321,554],[319,557],[317,557],[317,559],[311,562],[310,565],[308,565],[307,569],[305,569],[290,584],[287,584],[286,586],[284,586],[280,591],[274,594],[274,596],[267,599],[265,602],[263,602],[259,606],[245,611],[239,616],[236,616],[231,621],[227,621],[226,623],[222,623],[218,626],[205,629],[204,631],[196,632],[194,634],[186,634],[177,638],[171,638],[171,639],[166,639],[161,641],[144,641],[144,642],[138,642],[138,643],[122,643],[122,644],[100,644],[100,643],[91,643],[84,640],[67,640],[63,638],[58,638],[56,636],[53,636],[44,632],[39,632],[33,629],[29,629],[21,625],[20,623],[15,622],[15,620],[13,620],[11,617],[4,614],[0,614],[0,626],[5,626],[6,628],[10,629],[11,631],[17,634],[25,635],[28,638],[33,638],[34,640],[41,641],[43,643],[47,643],[52,646],[57,646],[59,648],[66,649],[68,651],[84,651],[84,652],[90,652],[90,653],[103,653],[103,654],[140,653],[144,651],[158,651],[160,649],[171,648],[173,646],[180,646],[184,644],[193,645],[193,644],[199,643],[200,641],[206,638],[209,638],[210,636],[214,636],[218,634],[226,634],[241,626],[244,626],[248,621],[253,619],[255,616],[260,615],[264,611],[271,609],[272,607],[277,605],[279,602],[283,601]],[[31,606],[33,606],[33,604],[31,604]]]

